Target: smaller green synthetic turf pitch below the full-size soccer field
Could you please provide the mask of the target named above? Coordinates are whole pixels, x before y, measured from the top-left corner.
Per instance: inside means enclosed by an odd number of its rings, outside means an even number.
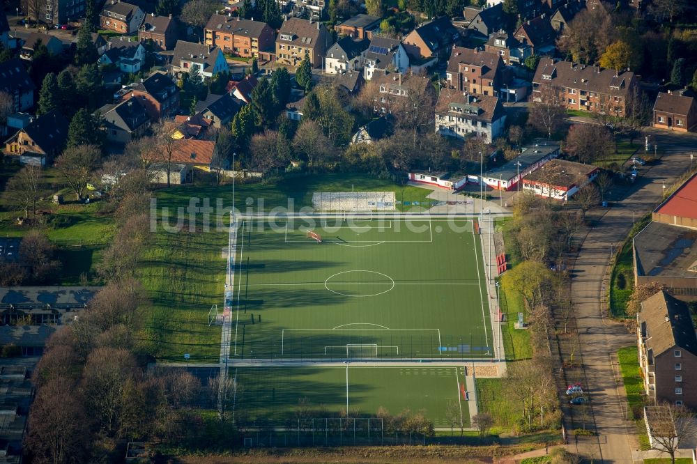
[[[240,367],[231,369],[230,374],[237,380],[235,411],[240,422],[339,417],[339,412],[346,410],[346,366]],[[458,393],[463,383],[462,367],[349,364],[348,410],[358,411],[359,417],[374,416],[381,407],[391,415],[406,409],[422,411],[434,426],[450,426],[447,410],[452,408],[461,411],[467,427],[468,404]],[[300,413],[301,409],[304,412]]]

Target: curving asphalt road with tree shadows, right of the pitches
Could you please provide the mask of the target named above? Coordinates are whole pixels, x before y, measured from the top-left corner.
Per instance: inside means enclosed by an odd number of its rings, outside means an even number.
[[[663,195],[664,182],[672,185],[689,169],[691,151],[697,155],[697,134],[653,129],[645,132],[654,137],[664,157],[653,166],[642,167],[634,185],[615,188],[613,196],[619,197],[618,201],[588,231],[573,268],[572,301],[599,434],[597,440],[579,445],[579,451],[602,458],[604,463],[633,463],[638,449],[634,423],[624,419],[625,392],[615,383],[612,365],[618,348],[631,346],[636,339],[621,323],[601,314],[604,272],[611,249],[627,237],[634,218],[652,210]]]

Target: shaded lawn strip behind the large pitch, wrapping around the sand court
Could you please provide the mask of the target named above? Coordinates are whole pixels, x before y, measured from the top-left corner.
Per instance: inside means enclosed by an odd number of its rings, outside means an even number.
[[[410,185],[397,185],[390,180],[371,178],[359,174],[328,173],[321,176],[298,176],[268,183],[236,185],[236,207],[240,210],[268,211],[272,208],[312,206],[314,192],[395,192],[397,209],[422,211],[430,208],[426,196],[431,190]],[[232,186],[224,187],[173,187],[158,194],[158,206],[187,205],[191,197],[210,199],[211,206],[220,200],[223,206],[232,203]],[[409,204],[406,205],[405,202]],[[417,206],[414,202],[419,203]],[[424,208],[424,204],[427,208]]]

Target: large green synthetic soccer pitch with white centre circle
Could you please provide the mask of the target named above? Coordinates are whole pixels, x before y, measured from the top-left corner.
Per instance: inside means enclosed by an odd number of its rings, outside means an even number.
[[[231,356],[491,357],[484,279],[469,219],[242,222]]]

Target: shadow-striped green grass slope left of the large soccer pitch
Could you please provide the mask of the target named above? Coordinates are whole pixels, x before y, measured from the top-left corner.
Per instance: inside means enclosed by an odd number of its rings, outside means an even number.
[[[152,234],[141,259],[138,279],[144,304],[141,348],[158,359],[217,362],[220,326],[208,325],[212,304],[222,307],[227,233]]]

